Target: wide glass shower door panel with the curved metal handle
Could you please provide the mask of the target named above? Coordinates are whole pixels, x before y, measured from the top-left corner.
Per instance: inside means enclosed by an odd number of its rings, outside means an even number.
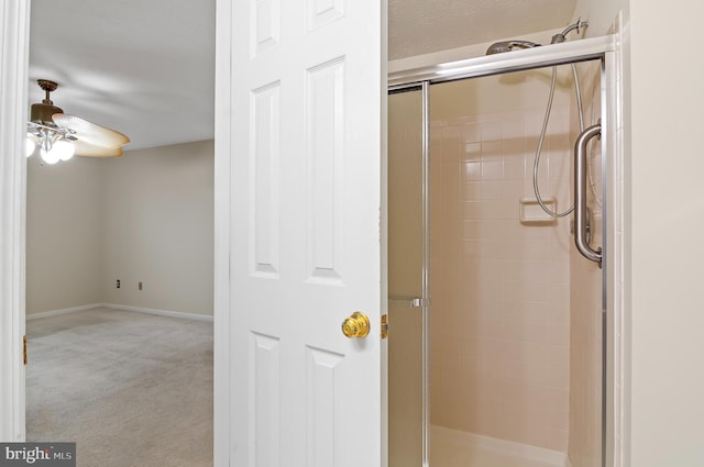
[[[579,99],[569,65],[552,91],[552,67],[430,86],[431,467],[601,465],[602,270],[534,184],[569,211],[574,141],[602,115],[601,60],[578,68]],[[596,248],[602,157],[591,148]]]

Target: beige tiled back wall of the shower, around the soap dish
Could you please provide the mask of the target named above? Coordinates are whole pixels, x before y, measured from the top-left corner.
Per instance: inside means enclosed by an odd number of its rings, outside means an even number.
[[[431,423],[566,452],[569,221],[524,225],[549,70],[431,88]],[[569,207],[570,75],[540,187]]]

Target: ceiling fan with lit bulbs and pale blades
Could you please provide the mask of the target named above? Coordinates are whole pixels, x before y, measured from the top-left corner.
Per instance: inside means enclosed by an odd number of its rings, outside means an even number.
[[[28,122],[26,155],[40,147],[42,159],[47,164],[68,160],[74,155],[88,157],[120,157],[122,146],[130,142],[124,134],[90,123],[78,116],[68,115],[54,105],[50,92],[58,85],[48,79],[37,79],[37,85],[46,92],[41,103],[32,104]]]

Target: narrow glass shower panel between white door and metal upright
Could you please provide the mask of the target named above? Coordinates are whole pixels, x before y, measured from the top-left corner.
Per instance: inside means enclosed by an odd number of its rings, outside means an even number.
[[[391,467],[424,465],[422,93],[388,96],[388,451]],[[414,300],[416,300],[414,302]]]

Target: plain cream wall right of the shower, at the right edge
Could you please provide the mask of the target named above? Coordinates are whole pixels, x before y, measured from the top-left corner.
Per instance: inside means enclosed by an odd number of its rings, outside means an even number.
[[[696,55],[704,4],[580,0],[588,34],[626,10],[627,212],[630,245],[630,459],[625,465],[704,465],[704,258],[701,105]],[[628,215],[629,214],[629,215]],[[628,278],[627,278],[628,279]],[[628,351],[628,349],[627,349]],[[628,381],[627,381],[628,382]],[[627,405],[628,409],[628,405]]]

